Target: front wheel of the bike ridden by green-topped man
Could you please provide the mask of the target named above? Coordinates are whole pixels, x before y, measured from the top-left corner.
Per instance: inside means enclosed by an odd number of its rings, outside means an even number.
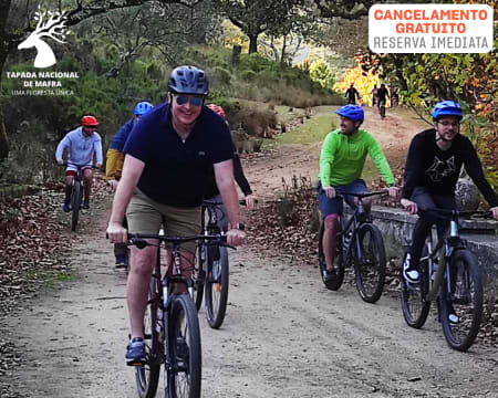
[[[367,303],[381,298],[385,277],[384,240],[377,227],[371,223],[360,226],[357,232],[362,260],[354,256],[356,289],[360,297]]]

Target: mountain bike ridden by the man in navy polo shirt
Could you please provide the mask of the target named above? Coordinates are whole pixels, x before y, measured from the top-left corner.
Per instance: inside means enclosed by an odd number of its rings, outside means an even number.
[[[146,360],[135,367],[135,380],[141,398],[155,397],[160,366],[164,364],[165,397],[200,397],[201,345],[197,311],[194,305],[194,284],[181,268],[181,243],[210,241],[224,244],[221,235],[167,237],[164,234],[129,234],[128,244],[138,249],[147,245],[145,239],[157,239],[157,261],[151,279],[147,307],[144,315]],[[169,243],[166,247],[166,243]],[[167,250],[167,251],[166,251]],[[166,254],[169,253],[169,254]],[[170,255],[172,272],[162,272],[162,259]],[[188,293],[175,293],[184,285]]]

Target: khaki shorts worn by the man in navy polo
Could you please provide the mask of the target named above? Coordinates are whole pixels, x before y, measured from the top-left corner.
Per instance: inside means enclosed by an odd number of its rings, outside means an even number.
[[[188,237],[200,233],[200,206],[178,208],[159,203],[136,189],[126,210],[129,233],[158,233],[160,227],[170,237]],[[164,221],[164,226],[163,226]],[[181,248],[195,253],[196,242]]]

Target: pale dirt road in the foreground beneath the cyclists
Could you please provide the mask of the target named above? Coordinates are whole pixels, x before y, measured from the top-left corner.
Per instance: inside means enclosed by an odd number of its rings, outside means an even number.
[[[102,206],[72,251],[74,281],[2,320],[22,356],[7,373],[19,397],[136,396],[123,359],[125,274],[102,239]],[[221,329],[199,313],[204,397],[498,397],[498,350],[454,352],[434,315],[412,329],[396,297],[370,305],[351,285],[326,291],[317,268],[264,259],[250,245],[230,253],[230,266]]]

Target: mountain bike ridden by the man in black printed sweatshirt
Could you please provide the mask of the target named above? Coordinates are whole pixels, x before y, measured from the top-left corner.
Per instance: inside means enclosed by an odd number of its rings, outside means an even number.
[[[433,245],[427,237],[419,259],[421,277],[417,283],[406,281],[401,273],[401,304],[406,323],[415,328],[424,326],[430,302],[437,302],[439,322],[452,348],[467,350],[479,332],[483,315],[483,282],[479,263],[467,249],[467,241],[458,232],[460,216],[490,217],[491,212],[445,209],[418,210],[418,214],[434,220],[449,220],[449,234]],[[405,261],[403,258],[403,262]],[[450,320],[456,315],[456,321]]]

